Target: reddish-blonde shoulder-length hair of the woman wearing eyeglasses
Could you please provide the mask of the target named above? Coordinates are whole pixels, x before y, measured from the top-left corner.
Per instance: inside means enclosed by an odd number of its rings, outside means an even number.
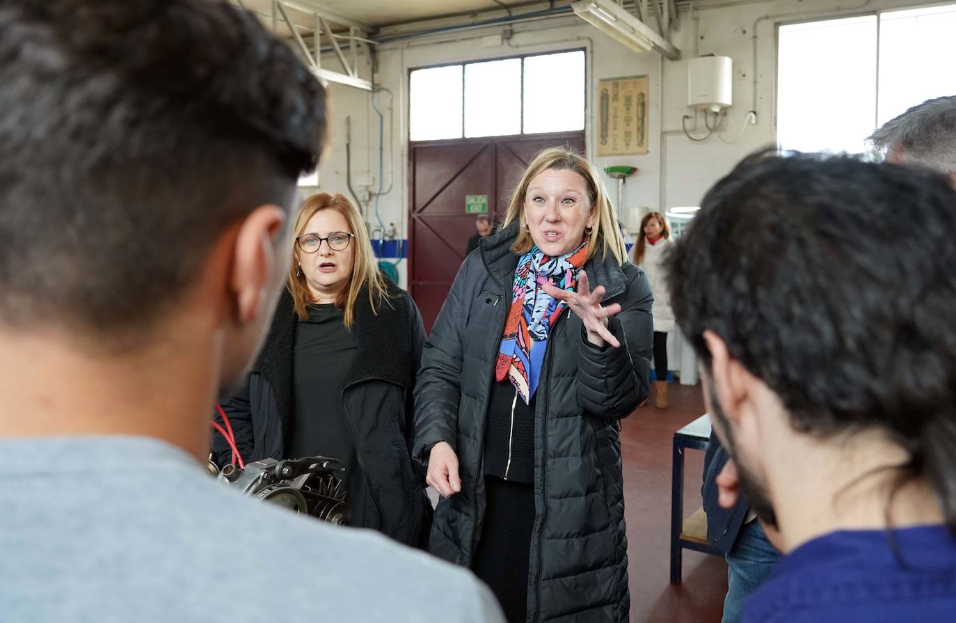
[[[295,216],[295,226],[292,233],[293,263],[289,269],[288,287],[293,295],[295,314],[301,320],[309,318],[309,303],[312,301],[312,293],[309,291],[309,284],[306,282],[305,275],[296,271],[298,262],[295,257],[295,238],[305,234],[305,226],[309,223],[309,219],[315,215],[315,212],[323,210],[335,210],[344,216],[345,221],[349,224],[349,233],[352,234],[351,244],[354,249],[352,276],[336,299],[336,307],[342,310],[345,326],[351,327],[356,318],[356,300],[359,299],[359,293],[363,287],[368,289],[368,300],[372,305],[372,313],[376,315],[379,313],[378,305],[381,301],[387,302],[390,297],[385,278],[381,276],[375,252],[372,251],[372,242],[368,237],[368,230],[365,229],[365,223],[362,222],[359,211],[345,195],[316,192],[306,197],[305,201],[302,202],[302,206]],[[389,304],[391,303],[389,302]]]

